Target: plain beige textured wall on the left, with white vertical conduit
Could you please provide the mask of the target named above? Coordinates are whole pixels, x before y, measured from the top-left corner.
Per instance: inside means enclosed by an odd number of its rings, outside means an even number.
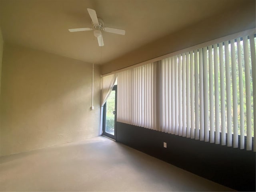
[[[100,134],[100,68],[5,44],[2,62],[0,155],[91,138]]]

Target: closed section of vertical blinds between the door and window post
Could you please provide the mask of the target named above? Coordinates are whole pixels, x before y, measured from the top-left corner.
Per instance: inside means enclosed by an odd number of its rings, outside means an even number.
[[[157,67],[156,62],[118,73],[119,122],[156,129]]]

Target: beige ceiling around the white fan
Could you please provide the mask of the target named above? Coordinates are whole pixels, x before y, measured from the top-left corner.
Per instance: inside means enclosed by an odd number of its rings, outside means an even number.
[[[5,42],[102,64],[160,37],[221,13],[244,0],[0,0]],[[96,10],[104,26],[126,30],[103,33],[99,47],[86,8]]]

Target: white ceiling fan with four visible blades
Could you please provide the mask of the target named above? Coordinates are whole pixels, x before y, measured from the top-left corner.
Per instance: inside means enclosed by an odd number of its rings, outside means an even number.
[[[120,34],[120,35],[125,34],[125,30],[123,30],[123,29],[104,27],[103,20],[97,17],[95,10],[87,8],[87,11],[92,19],[93,28],[69,29],[70,32],[94,30],[94,36],[98,39],[99,46],[104,46],[104,42],[103,42],[103,38],[102,38],[102,30],[106,31],[106,32],[110,32],[110,33]]]

